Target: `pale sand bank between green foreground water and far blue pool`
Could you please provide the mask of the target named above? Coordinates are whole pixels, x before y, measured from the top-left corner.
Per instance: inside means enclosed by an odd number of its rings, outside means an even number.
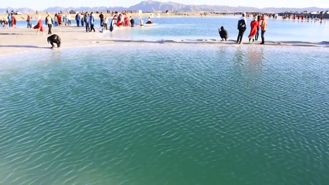
[[[126,28],[129,29],[138,28]],[[45,28],[45,34],[36,35],[34,29],[0,29],[0,55],[8,55],[15,53],[23,53],[38,50],[49,50],[50,44],[47,43],[48,28]],[[221,42],[220,40],[125,40],[111,38],[111,33],[96,32],[86,33],[84,27],[55,27],[52,33],[60,35],[62,39],[61,49],[70,47],[88,47],[88,46],[102,46],[102,45],[150,45],[150,44],[167,44],[167,45],[221,45],[221,46],[234,46],[234,47],[324,47],[329,49],[329,42],[310,43],[310,42],[297,42],[297,41],[282,41],[282,42],[266,42],[265,45],[258,43],[237,45],[235,41],[229,40]]]

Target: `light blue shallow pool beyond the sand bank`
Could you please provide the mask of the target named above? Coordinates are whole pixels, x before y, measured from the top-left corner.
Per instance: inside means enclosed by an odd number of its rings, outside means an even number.
[[[230,34],[229,39],[236,39],[237,19],[232,17],[154,17],[153,21],[159,25],[152,28],[134,28],[132,30],[116,31],[114,38],[120,39],[143,39],[143,40],[185,40],[185,39],[220,39],[218,28],[224,26]],[[138,18],[135,18],[138,23]],[[145,20],[144,20],[145,21]],[[248,20],[248,25],[251,19]],[[72,22],[74,23],[74,21]],[[19,27],[26,27],[26,21],[19,22]],[[96,27],[99,20],[96,20]],[[84,29],[84,28],[81,28]],[[250,29],[250,26],[249,26]],[[245,33],[245,40],[250,30]],[[322,42],[328,41],[329,22],[322,24],[298,21],[268,20],[266,31],[267,41],[305,41]]]

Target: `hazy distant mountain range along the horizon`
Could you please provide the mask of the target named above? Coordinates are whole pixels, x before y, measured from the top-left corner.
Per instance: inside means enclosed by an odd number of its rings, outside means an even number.
[[[6,12],[7,8],[0,8],[0,12]],[[11,11],[13,8],[8,7],[8,10]],[[22,13],[31,13],[35,10],[30,8],[16,8],[15,10]],[[142,1],[141,3],[131,6],[131,7],[49,7],[45,10],[39,10],[43,12],[65,12],[67,10],[76,10],[76,11],[103,11],[106,10],[142,10],[144,12],[154,12],[166,10],[169,11],[179,11],[179,12],[188,12],[188,11],[209,11],[209,12],[285,12],[285,11],[326,11],[329,8],[317,8],[317,7],[308,7],[308,8],[254,8],[254,7],[230,7],[230,6],[211,6],[211,5],[185,5],[181,3],[173,2],[157,2],[157,1]]]

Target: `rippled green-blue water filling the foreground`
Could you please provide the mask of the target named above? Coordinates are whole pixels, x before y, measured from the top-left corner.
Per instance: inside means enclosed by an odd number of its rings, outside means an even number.
[[[328,57],[119,46],[1,58],[0,184],[326,184]]]

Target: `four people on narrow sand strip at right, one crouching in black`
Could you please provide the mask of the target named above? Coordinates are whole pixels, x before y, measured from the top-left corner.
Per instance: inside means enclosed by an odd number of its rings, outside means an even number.
[[[236,44],[242,44],[242,39],[245,31],[247,30],[247,19],[246,19],[246,13],[243,13],[242,16],[239,18],[239,21],[237,21],[237,39]],[[250,22],[250,33],[248,35],[249,43],[252,44],[254,41],[258,41],[259,38],[259,32],[261,31],[261,39],[262,42],[260,44],[265,43],[265,32],[267,28],[267,21],[265,15],[256,15],[254,14],[252,17],[252,21]],[[221,36],[222,41],[226,41],[228,39],[228,32],[222,26],[221,28],[218,28],[218,33]]]

